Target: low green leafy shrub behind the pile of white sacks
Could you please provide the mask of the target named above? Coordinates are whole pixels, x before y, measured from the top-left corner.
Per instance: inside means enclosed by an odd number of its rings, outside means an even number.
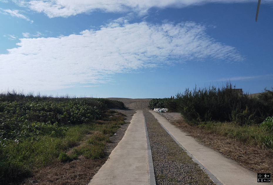
[[[167,108],[171,112],[176,112],[177,104],[174,98],[154,98],[149,102],[149,108]]]

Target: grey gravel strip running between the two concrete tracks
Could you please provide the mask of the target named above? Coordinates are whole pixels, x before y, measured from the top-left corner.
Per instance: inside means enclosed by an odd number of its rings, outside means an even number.
[[[214,184],[147,110],[143,111],[154,162],[156,184]]]

